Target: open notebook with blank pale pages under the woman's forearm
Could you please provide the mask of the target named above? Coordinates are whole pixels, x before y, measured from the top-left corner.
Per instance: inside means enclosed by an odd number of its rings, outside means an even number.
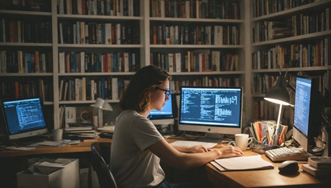
[[[260,155],[248,157],[232,157],[215,159],[210,162],[220,171],[242,171],[257,169],[273,169],[274,165],[262,159]]]

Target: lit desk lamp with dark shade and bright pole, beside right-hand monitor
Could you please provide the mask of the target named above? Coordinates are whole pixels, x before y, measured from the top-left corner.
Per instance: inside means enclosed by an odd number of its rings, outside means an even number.
[[[264,99],[276,104],[279,104],[279,112],[278,112],[278,119],[276,125],[276,132],[274,134],[273,144],[278,145],[277,141],[277,134],[279,128],[279,120],[281,114],[281,108],[283,105],[288,106],[290,105],[290,95],[286,89],[287,79],[283,76],[278,76],[276,84],[270,88],[268,93],[264,96]]]

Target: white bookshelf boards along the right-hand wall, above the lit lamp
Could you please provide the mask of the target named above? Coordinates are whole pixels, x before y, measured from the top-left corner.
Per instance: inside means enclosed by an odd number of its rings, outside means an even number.
[[[256,0],[251,0],[250,4],[250,10],[254,11],[256,10],[254,8],[254,4],[256,3]],[[257,22],[263,22],[263,21],[284,21],[292,16],[296,15],[312,15],[312,14],[317,14],[321,12],[322,10],[325,10],[326,8],[331,7],[331,1],[330,0],[316,0],[313,3],[301,5],[295,8],[290,8],[287,10],[282,10],[276,13],[272,13],[269,15],[263,15],[263,16],[258,16],[258,17],[253,17],[253,12],[251,14],[251,26],[250,30],[252,31],[253,28],[255,27],[255,23]],[[329,18],[327,18],[329,19]],[[326,20],[324,20],[326,22]],[[252,33],[254,35],[254,33]],[[326,38],[331,38],[331,30],[327,31],[318,31],[318,32],[313,32],[313,33],[308,33],[308,34],[302,34],[302,35],[297,35],[297,36],[291,36],[291,37],[286,37],[286,38],[280,38],[280,39],[275,39],[275,40],[267,40],[267,41],[262,41],[262,42],[255,42],[253,43],[251,41],[250,47],[251,47],[251,53],[254,53],[259,50],[267,50],[272,47],[275,47],[277,45],[283,45],[283,46],[290,46],[292,44],[309,44],[313,43],[317,40],[323,40]],[[252,56],[250,56],[250,61],[252,64]],[[327,85],[325,86],[326,88],[329,89],[330,91],[330,81],[331,81],[331,59],[329,58],[328,62],[326,65],[323,66],[309,66],[309,67],[290,67],[290,68],[271,68],[271,69],[252,69],[251,67],[248,67],[247,72],[250,72],[252,74],[252,78],[250,78],[250,81],[253,81],[253,76],[254,75],[259,75],[259,74],[267,74],[267,75],[274,75],[275,77],[279,75],[279,71],[281,71],[282,75],[284,76],[285,72],[288,71],[288,74],[307,74],[307,75],[323,75],[326,74],[328,81]],[[252,88],[252,91],[254,88]],[[252,94],[252,99],[256,100],[258,98],[262,98],[264,94]],[[257,109],[255,109],[257,110]],[[292,109],[288,109],[292,111]],[[268,113],[268,112],[267,112]],[[285,114],[286,112],[284,112]],[[292,113],[292,112],[291,112]],[[275,119],[275,118],[274,118]],[[293,117],[290,117],[290,120],[285,123],[293,124]]]

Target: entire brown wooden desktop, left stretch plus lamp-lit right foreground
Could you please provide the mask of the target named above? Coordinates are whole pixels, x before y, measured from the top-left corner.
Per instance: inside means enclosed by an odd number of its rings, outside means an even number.
[[[168,142],[175,141],[174,139],[166,139]],[[93,139],[81,141],[79,144],[66,145],[60,147],[37,146],[36,149],[28,151],[7,150],[0,148],[0,157],[27,156],[38,154],[52,153],[73,153],[73,152],[88,152],[91,151],[93,141],[111,144],[110,139]],[[215,148],[222,147],[218,144]],[[259,155],[253,151],[245,151],[245,156]],[[261,155],[266,161],[273,163],[266,155]],[[220,172],[210,163],[205,165],[207,179],[216,187],[281,187],[281,186],[314,186],[320,184],[323,187],[331,187],[331,179],[316,179],[306,172],[300,170],[293,175],[281,174],[278,171],[280,163],[273,163],[274,169],[253,170],[253,171],[232,171]],[[299,164],[301,167],[301,164]]]

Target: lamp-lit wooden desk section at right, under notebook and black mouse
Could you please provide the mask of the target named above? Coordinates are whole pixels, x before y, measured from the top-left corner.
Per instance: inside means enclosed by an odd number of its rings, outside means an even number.
[[[247,150],[244,151],[244,155],[253,156],[259,154]],[[261,155],[261,157],[273,163],[265,154]],[[299,171],[294,174],[281,174],[278,171],[280,163],[273,164],[275,165],[274,169],[221,172],[208,163],[205,165],[205,170],[208,181],[216,187],[331,187],[330,178],[324,178],[322,180],[314,178],[312,175],[301,170],[301,163],[299,163]]]

